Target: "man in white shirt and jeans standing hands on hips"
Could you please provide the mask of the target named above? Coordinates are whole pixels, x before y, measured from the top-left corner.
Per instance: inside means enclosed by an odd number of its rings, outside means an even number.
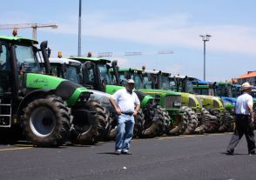
[[[118,129],[116,135],[116,154],[130,154],[130,143],[133,135],[134,117],[140,107],[138,96],[133,92],[134,81],[129,79],[125,89],[118,90],[110,102],[118,114]]]

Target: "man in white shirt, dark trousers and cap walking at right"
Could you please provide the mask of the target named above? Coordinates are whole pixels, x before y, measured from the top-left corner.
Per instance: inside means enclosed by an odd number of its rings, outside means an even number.
[[[250,83],[243,83],[240,90],[243,92],[237,99],[235,107],[236,130],[234,131],[231,141],[227,147],[227,153],[232,155],[239,140],[246,136],[248,154],[255,154],[255,140],[253,132],[253,97]]]

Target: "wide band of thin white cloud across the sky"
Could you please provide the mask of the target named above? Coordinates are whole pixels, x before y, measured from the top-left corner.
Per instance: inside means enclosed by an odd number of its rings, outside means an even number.
[[[202,25],[190,22],[190,16],[174,15],[129,21],[111,21],[108,14],[83,15],[83,35],[126,40],[134,43],[178,45],[202,48],[200,34],[210,34],[208,50],[223,50],[256,56],[256,28],[237,24]],[[51,32],[53,32],[51,30]],[[65,18],[57,33],[77,34],[77,17]]]

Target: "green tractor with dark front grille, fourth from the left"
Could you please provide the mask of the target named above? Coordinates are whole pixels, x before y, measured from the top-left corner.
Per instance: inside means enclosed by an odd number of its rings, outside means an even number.
[[[181,96],[179,92],[158,89],[158,76],[155,72],[145,72],[137,69],[120,69],[120,79],[125,81],[133,78],[135,88],[138,91],[151,95],[158,99],[162,110],[165,112],[164,132],[168,135],[180,135],[185,133],[188,123],[187,109],[181,107]]]

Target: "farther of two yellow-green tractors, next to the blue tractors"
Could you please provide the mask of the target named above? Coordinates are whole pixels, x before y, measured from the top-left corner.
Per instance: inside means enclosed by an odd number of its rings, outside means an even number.
[[[212,131],[225,132],[234,130],[234,118],[228,110],[225,109],[224,103],[220,97],[216,97],[216,83],[202,82],[197,79],[192,80],[193,91],[201,99],[203,107],[218,117]]]

